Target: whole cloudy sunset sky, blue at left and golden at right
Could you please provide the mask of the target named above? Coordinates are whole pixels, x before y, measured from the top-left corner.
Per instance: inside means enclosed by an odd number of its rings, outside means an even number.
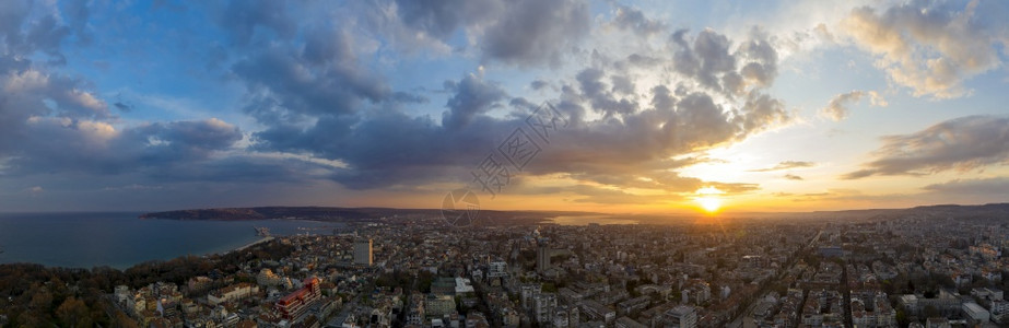
[[[0,212],[1009,200],[1006,1],[0,1]]]

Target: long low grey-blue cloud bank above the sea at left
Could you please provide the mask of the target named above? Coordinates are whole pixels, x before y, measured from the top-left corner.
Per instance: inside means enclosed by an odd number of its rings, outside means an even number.
[[[242,140],[240,130],[218,119],[141,125],[122,130],[90,120],[33,118],[10,160],[15,174],[125,174],[172,169],[211,159]],[[45,136],[45,138],[38,138]]]

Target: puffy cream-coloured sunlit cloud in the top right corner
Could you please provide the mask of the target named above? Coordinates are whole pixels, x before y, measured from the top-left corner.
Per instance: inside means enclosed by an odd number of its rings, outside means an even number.
[[[890,80],[915,96],[953,98],[967,94],[967,79],[1001,65],[999,46],[1009,10],[1001,1],[911,1],[882,12],[857,8],[841,28],[873,54]]]

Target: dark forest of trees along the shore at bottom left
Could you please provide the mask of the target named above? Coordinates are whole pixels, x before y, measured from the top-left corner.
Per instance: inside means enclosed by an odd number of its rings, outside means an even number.
[[[292,250],[272,241],[242,251],[146,261],[126,270],[0,265],[0,327],[138,327],[113,304],[109,295],[116,285],[139,289],[157,281],[185,285],[193,277],[227,277],[238,272],[242,263],[279,260]]]

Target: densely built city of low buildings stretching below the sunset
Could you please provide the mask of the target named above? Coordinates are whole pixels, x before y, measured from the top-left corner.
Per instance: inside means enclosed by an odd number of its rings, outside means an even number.
[[[454,227],[394,216],[281,237],[294,249],[283,259],[180,286],[119,286],[114,297],[144,327],[1009,324],[1007,230],[979,226],[903,218]],[[906,288],[919,277],[952,285]]]

